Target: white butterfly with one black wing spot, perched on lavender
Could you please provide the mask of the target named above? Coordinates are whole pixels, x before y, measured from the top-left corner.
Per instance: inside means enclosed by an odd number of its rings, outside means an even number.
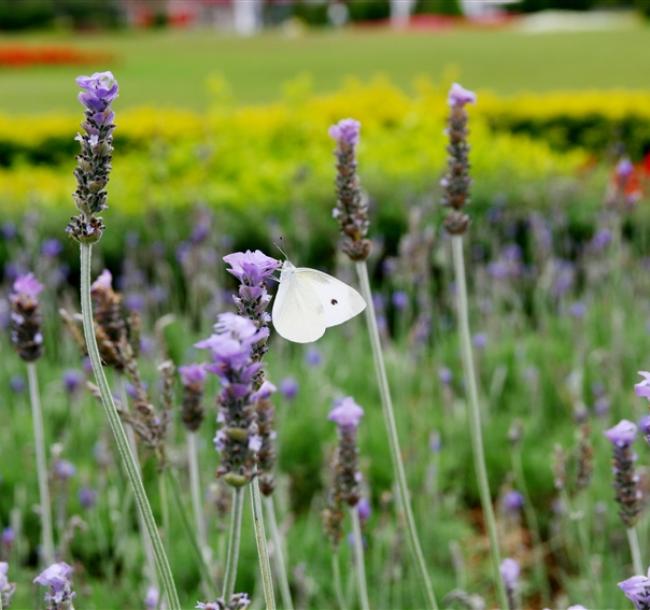
[[[273,326],[288,341],[311,343],[326,328],[347,322],[365,308],[363,297],[341,280],[285,261],[273,303]]]

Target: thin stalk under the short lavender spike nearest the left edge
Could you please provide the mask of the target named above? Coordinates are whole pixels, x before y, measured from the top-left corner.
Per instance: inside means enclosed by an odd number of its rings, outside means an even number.
[[[54,534],[52,532],[52,503],[48,485],[47,459],[45,457],[45,433],[43,431],[43,410],[41,395],[38,391],[36,363],[27,363],[29,380],[29,399],[32,403],[32,425],[34,427],[34,445],[36,450],[36,474],[38,476],[38,493],[41,513],[41,540],[43,543],[43,561],[45,565],[54,562]]]

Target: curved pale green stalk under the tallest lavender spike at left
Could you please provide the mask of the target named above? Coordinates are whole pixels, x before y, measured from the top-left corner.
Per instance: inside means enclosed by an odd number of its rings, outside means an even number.
[[[126,436],[126,431],[120,420],[119,413],[113,401],[111,389],[106,380],[104,369],[102,368],[101,358],[99,356],[99,349],[97,347],[97,338],[95,337],[95,326],[93,322],[92,300],[90,298],[90,263],[92,256],[92,246],[90,244],[81,244],[81,313],[83,316],[84,336],[86,339],[86,347],[88,356],[92,365],[93,373],[99,393],[102,399],[102,405],[106,412],[108,423],[115,437],[115,443],[122,460],[122,465],[126,471],[127,477],[133,493],[135,495],[136,505],[138,511],[142,515],[145,527],[151,540],[154,557],[156,560],[156,567],[158,575],[162,583],[163,589],[167,595],[170,610],[181,610],[178,593],[174,584],[171,567],[158,528],[156,521],[151,511],[151,505],[147,498],[147,494],[142,484],[140,470],[138,469],[137,462],[129,446],[129,441]]]

